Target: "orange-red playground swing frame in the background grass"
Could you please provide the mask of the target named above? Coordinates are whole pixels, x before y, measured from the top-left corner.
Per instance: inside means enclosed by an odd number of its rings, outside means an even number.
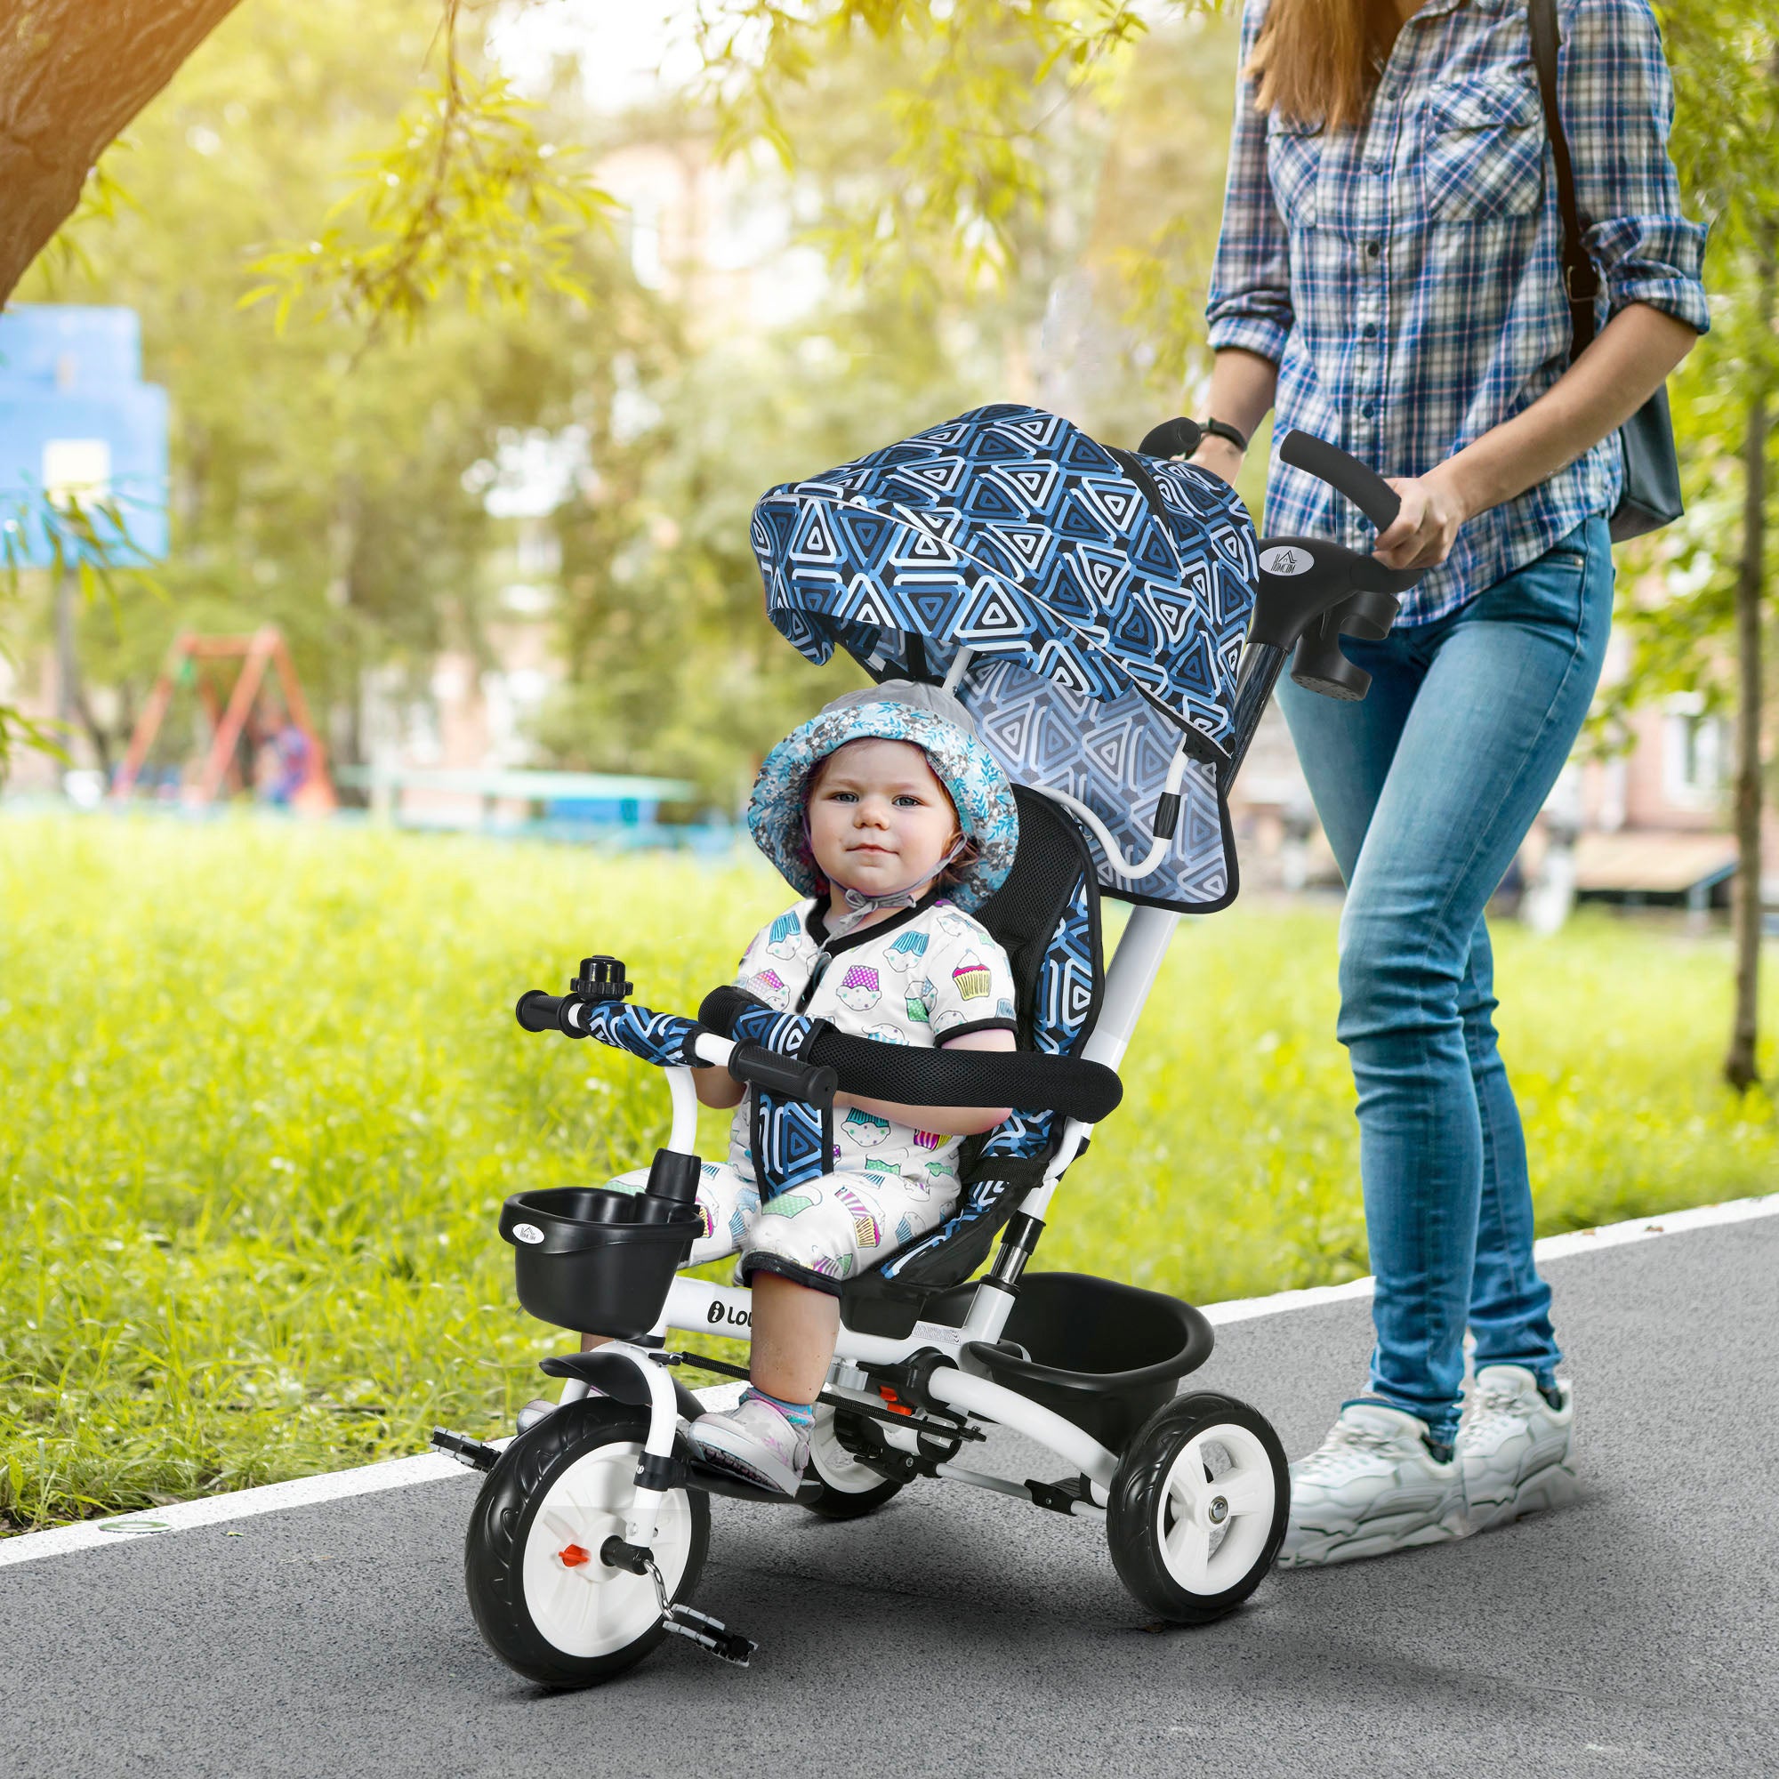
[[[240,662],[240,672],[231,687],[226,671],[222,674],[206,671],[212,662]],[[253,790],[253,761],[267,745],[278,754],[278,776],[270,786],[272,802],[310,815],[327,815],[338,806],[327,774],[327,754],[310,722],[302,683],[297,680],[283,633],[274,624],[262,626],[251,637],[199,637],[180,632],[173,639],[155,690],[130,737],[130,751],[112,781],[114,802],[126,802],[135,790],[173,694],[181,685],[196,690],[210,724],[203,770],[196,783],[181,788],[181,801],[187,806],[205,808],[224,792]]]

